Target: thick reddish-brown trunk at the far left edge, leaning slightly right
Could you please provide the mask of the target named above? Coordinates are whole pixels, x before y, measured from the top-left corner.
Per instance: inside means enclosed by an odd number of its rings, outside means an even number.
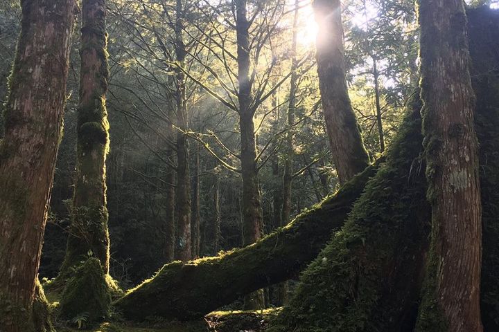
[[[76,3],[39,0],[21,1],[21,6],[21,35],[0,142],[0,326],[6,332],[45,329],[32,310]]]

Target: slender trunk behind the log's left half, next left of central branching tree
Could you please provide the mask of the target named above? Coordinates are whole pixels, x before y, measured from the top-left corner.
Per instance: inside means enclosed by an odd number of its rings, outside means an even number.
[[[177,19],[175,22],[175,54],[178,65],[182,68],[185,62],[184,30],[184,8],[182,0],[177,0]],[[189,261],[192,258],[191,241],[191,178],[189,176],[189,146],[187,136],[187,106],[185,75],[182,70],[177,69],[177,127],[181,131],[177,133],[177,250],[175,257],[181,261]]]

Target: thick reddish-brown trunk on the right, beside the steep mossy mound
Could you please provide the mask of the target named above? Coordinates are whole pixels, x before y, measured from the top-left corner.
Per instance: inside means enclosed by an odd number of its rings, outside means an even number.
[[[482,208],[464,3],[421,0],[432,238],[417,331],[480,332]]]

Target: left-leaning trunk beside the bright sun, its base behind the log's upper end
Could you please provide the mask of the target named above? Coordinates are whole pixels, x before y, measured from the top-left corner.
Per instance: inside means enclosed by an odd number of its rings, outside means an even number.
[[[316,0],[317,73],[326,129],[340,183],[362,172],[369,156],[351,107],[344,64],[340,0]]]

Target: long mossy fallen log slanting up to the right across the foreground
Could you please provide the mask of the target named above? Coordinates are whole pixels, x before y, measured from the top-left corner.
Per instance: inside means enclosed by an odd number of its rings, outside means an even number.
[[[376,168],[368,167],[338,193],[251,246],[218,257],[167,264],[119,299],[116,308],[130,320],[149,316],[189,320],[240,295],[290,279],[324,248],[331,232],[343,225]]]

